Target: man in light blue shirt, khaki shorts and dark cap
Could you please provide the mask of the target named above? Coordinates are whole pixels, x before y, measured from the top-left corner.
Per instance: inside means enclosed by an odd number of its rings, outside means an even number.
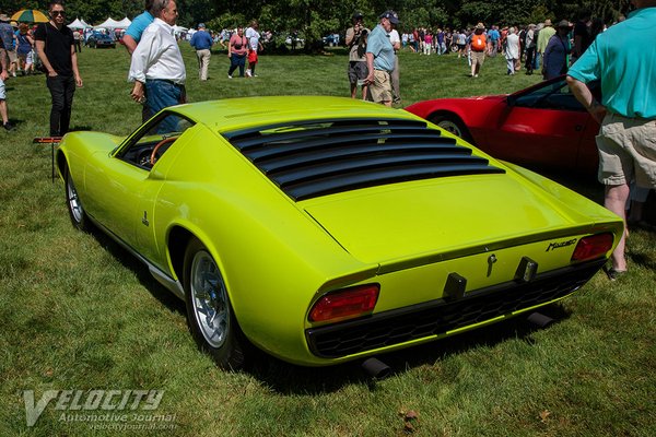
[[[365,82],[376,103],[391,106],[391,75],[394,70],[394,46],[389,42],[391,25],[399,24],[394,11],[380,15],[380,23],[370,33],[366,40],[366,66],[368,75]]]

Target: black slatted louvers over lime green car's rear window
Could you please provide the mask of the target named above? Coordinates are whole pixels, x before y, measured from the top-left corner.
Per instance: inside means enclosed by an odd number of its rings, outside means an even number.
[[[296,201],[408,180],[504,173],[415,120],[302,121],[223,137]]]

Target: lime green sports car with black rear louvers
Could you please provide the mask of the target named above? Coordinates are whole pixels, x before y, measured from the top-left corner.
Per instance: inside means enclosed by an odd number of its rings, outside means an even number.
[[[67,134],[72,223],[186,303],[199,346],[331,365],[559,300],[622,221],[409,113],[336,97],[167,108],[128,138]]]

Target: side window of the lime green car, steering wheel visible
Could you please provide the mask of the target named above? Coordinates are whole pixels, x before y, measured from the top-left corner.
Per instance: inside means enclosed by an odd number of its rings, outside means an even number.
[[[132,134],[116,157],[150,170],[164,153],[195,123],[177,114],[162,113]]]

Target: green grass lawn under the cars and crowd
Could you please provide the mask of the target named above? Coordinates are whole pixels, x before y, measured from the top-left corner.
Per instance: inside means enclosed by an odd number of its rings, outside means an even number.
[[[263,55],[251,80],[229,80],[227,58],[215,54],[207,83],[196,79],[194,54],[184,54],[191,102],[349,95],[339,51]],[[80,68],[72,126],[120,135],[137,128],[125,50],[85,49]],[[453,56],[403,52],[401,69],[405,105],[539,81],[506,76],[502,58],[488,59],[478,80]],[[408,411],[419,414],[409,422],[420,436],[656,435],[653,234],[632,232],[625,277],[598,274],[546,309],[559,318],[547,330],[515,319],[388,354],[395,373],[382,381],[365,378],[358,363],[300,368],[266,358],[225,373],[196,350],[181,302],[109,239],[71,227],[62,184],[49,179],[49,146],[32,144],[48,131],[44,76],[7,85],[17,129],[0,132],[0,436],[161,434],[66,423],[54,403],[26,427],[23,390],[38,400],[46,390],[93,389],[164,390],[154,413],[175,415],[167,433],[179,436],[398,436]],[[600,197],[594,181],[565,181]]]

